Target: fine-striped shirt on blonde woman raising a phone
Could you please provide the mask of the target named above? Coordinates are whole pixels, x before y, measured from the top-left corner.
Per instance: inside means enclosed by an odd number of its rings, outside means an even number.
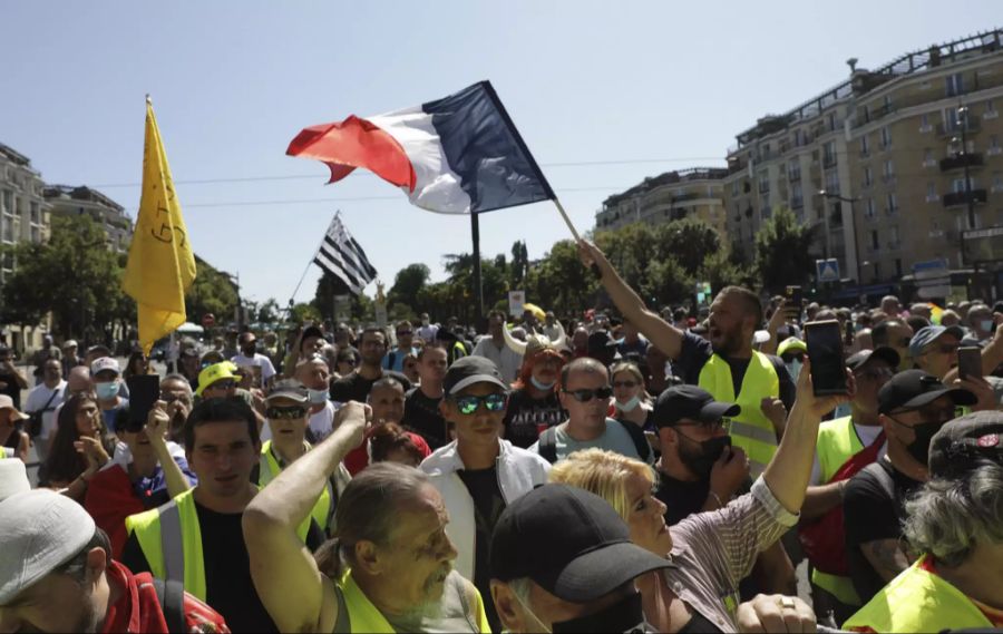
[[[720,510],[691,515],[672,526],[669,588],[722,632],[737,632],[739,582],[756,557],[797,524],[762,478]]]

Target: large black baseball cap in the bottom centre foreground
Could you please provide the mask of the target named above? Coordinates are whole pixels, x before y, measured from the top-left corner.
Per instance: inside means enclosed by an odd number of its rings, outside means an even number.
[[[672,564],[631,543],[606,500],[578,487],[551,484],[501,514],[491,538],[491,577],[529,577],[557,598],[587,603]]]

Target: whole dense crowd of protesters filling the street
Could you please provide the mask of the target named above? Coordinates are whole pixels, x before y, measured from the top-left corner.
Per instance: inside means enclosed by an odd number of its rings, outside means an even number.
[[[0,349],[0,631],[1003,627],[1003,305],[653,310],[580,252],[610,305],[182,339],[148,411],[142,352]]]

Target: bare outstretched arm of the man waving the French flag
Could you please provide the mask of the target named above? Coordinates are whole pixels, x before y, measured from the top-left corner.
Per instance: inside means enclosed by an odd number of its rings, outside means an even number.
[[[587,240],[578,241],[578,255],[586,267],[593,264],[598,267],[603,286],[620,313],[637,326],[637,330],[666,357],[679,359],[683,332],[650,311],[637,293],[613,270],[613,265],[596,245]]]

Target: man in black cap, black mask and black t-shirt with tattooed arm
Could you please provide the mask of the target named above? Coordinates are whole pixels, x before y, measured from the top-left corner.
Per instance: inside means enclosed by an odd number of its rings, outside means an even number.
[[[922,370],[893,377],[878,392],[887,455],[849,480],[843,503],[849,576],[864,604],[909,566],[902,542],[903,505],[929,479],[933,436],[954,418],[957,406],[975,402],[971,391],[947,389]]]

